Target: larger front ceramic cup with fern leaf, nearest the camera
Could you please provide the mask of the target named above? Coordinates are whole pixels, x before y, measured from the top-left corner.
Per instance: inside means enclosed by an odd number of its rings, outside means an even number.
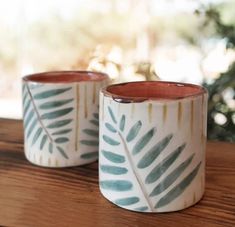
[[[99,185],[139,212],[187,208],[203,196],[207,92],[174,82],[111,85],[100,94]]]

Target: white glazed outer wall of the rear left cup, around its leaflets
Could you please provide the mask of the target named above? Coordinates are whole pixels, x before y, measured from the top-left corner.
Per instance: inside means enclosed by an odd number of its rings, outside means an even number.
[[[44,167],[69,167],[84,165],[97,160],[98,158],[98,135],[90,136],[84,133],[84,129],[96,131],[98,133],[98,111],[99,111],[99,90],[108,84],[108,78],[102,81],[80,81],[71,83],[40,83],[23,80],[23,109],[24,109],[24,127],[26,126],[26,119],[30,111],[34,111],[34,117],[29,121],[27,129],[30,124],[35,124],[33,131],[27,137],[27,131],[24,133],[24,147],[25,156],[33,164]],[[68,89],[65,92],[51,96],[44,99],[35,99],[35,95],[45,91],[56,89]],[[27,95],[28,94],[28,95]],[[52,110],[41,109],[40,105],[45,102],[54,102],[60,100],[72,100],[71,102]],[[25,111],[27,104],[30,107]],[[53,111],[58,111],[63,108],[71,108],[70,112],[57,117],[55,119],[40,119],[43,114]],[[63,127],[48,128],[47,126],[55,121],[63,121],[70,119],[71,122]],[[91,122],[93,121],[93,123]],[[95,124],[94,124],[95,122]],[[42,127],[42,133],[37,141],[32,145],[32,140],[38,127]],[[45,129],[45,130],[44,130]],[[66,157],[56,149],[56,138],[60,135],[53,135],[56,131],[63,129],[70,129],[71,131],[65,133],[62,137],[68,138],[68,141],[59,143]],[[47,134],[51,138],[53,145],[53,152],[49,152],[49,139],[45,145],[40,149],[42,136]],[[82,141],[94,141],[93,145],[86,145]]]

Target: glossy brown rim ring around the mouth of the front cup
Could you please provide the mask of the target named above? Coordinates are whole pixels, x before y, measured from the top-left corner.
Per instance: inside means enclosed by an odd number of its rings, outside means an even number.
[[[192,94],[185,94],[182,96],[175,96],[175,97],[156,97],[156,96],[144,96],[144,95],[140,95],[140,96],[130,96],[130,95],[120,95],[117,94],[117,92],[112,92],[112,88],[115,87],[122,87],[122,86],[130,86],[131,84],[140,84],[140,85],[152,85],[152,86],[156,86],[156,85],[163,85],[166,86],[166,89],[169,89],[170,86],[175,86],[175,88],[182,88],[182,87],[186,87],[186,88],[193,88],[195,89],[197,92],[193,92]],[[133,102],[144,102],[144,101],[177,101],[177,100],[184,100],[184,99],[188,99],[188,98],[193,98],[193,97],[198,97],[198,96],[202,96],[204,94],[208,94],[207,90],[205,87],[200,86],[200,85],[196,85],[196,84],[192,84],[192,83],[183,83],[183,82],[173,82],[173,81],[134,81],[134,82],[126,82],[126,83],[118,83],[118,84],[112,84],[112,85],[108,85],[104,88],[101,89],[101,92],[104,94],[104,96],[107,97],[111,97],[113,98],[113,100],[120,102],[120,103],[133,103]]]

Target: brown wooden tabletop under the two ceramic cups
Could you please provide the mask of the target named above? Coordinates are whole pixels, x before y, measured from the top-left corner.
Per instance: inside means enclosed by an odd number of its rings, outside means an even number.
[[[208,142],[206,193],[183,211],[143,214],[102,197],[97,163],[48,169],[23,154],[22,122],[0,119],[0,226],[235,226],[235,144]]]

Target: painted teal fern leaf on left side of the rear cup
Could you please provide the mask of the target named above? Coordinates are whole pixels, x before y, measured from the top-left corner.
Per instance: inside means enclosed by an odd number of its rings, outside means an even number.
[[[68,133],[72,131],[70,123],[73,120],[67,116],[73,111],[73,99],[54,101],[51,98],[71,89],[48,90],[43,85],[23,85],[25,137],[31,141],[31,146],[37,146],[39,150],[47,147],[49,153],[59,152],[65,159],[69,157],[61,145],[69,142]]]

